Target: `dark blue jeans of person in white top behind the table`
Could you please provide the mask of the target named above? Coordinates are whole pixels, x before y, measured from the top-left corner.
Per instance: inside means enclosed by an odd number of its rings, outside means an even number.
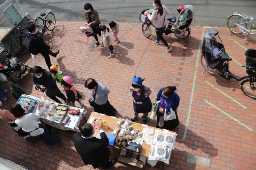
[[[44,133],[35,136],[35,138],[42,140],[42,142],[47,146],[51,146],[52,143],[54,145],[58,144],[58,142],[60,141],[60,137],[55,136],[47,127],[45,127],[41,123],[39,123],[39,128],[43,128]]]

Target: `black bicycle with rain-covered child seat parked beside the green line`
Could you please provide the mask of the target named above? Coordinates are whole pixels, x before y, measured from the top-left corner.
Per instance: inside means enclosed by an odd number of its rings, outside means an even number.
[[[224,45],[217,42],[216,38],[213,36],[218,35],[218,30],[210,29],[207,34],[205,34],[203,40],[201,41],[202,55],[201,64],[205,70],[205,73],[210,74],[220,74],[224,79],[230,80],[231,78],[240,82],[241,90],[243,93],[253,99],[256,99],[256,50],[249,49],[245,52],[246,56],[246,76],[237,77],[229,71],[229,61],[232,60],[225,52]],[[218,56],[215,54],[214,48],[220,49]],[[214,57],[215,56],[215,57]]]

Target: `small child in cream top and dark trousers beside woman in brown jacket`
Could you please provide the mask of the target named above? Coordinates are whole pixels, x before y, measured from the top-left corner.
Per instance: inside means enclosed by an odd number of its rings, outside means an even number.
[[[110,36],[109,28],[107,28],[105,25],[102,25],[100,27],[100,31],[101,31],[101,38],[102,38],[104,47],[106,47],[110,50],[110,55],[108,56],[108,58],[112,58],[114,56],[114,53],[116,53],[116,51],[114,50],[114,47],[112,46],[113,40]]]

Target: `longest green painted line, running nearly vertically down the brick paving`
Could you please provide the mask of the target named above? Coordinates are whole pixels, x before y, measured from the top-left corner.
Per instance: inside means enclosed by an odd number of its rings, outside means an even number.
[[[204,29],[202,31],[202,35],[201,35],[201,40],[203,38],[203,34],[204,34]],[[199,56],[200,56],[200,45],[198,47],[198,54],[196,57],[196,64],[195,64],[195,68],[198,68],[198,61],[199,61]],[[189,102],[189,112],[188,112],[188,117],[187,117],[187,121],[186,121],[186,127],[185,127],[185,131],[184,131],[184,136],[183,136],[183,140],[186,139],[186,135],[188,132],[188,125],[189,125],[189,120],[190,120],[190,114],[191,114],[191,108],[192,108],[192,102],[193,102],[193,96],[194,96],[194,90],[195,90],[195,80],[196,80],[196,73],[197,71],[195,70],[195,74],[194,74],[194,80],[193,80],[193,86],[192,86],[192,91],[191,91],[191,96],[190,96],[190,102]]]

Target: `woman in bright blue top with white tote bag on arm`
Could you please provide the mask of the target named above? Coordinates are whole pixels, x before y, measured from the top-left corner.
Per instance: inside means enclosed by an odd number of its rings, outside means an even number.
[[[180,97],[174,92],[175,90],[175,86],[167,86],[165,88],[161,88],[157,93],[156,100],[160,100],[157,110],[157,128],[171,130],[175,129],[179,125],[177,108],[180,104]],[[171,109],[175,112],[176,119],[164,120],[164,114],[170,114]]]

